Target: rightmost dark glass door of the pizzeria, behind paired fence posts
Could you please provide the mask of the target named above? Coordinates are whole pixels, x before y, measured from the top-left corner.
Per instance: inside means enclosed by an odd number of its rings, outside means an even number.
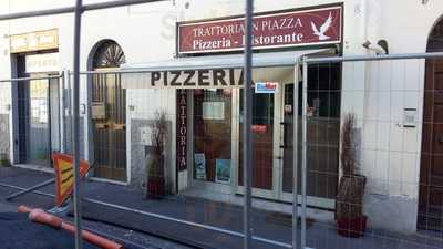
[[[307,113],[307,195],[308,205],[334,208],[338,186],[340,141],[340,65],[312,66],[308,71]],[[281,199],[292,200],[293,186],[293,114],[298,108],[298,191],[301,190],[301,83],[298,103],[293,84],[284,85],[282,94],[282,170]]]

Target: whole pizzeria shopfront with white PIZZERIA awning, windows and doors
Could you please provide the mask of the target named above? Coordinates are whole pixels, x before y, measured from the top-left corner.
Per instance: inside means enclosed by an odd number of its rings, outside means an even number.
[[[306,54],[330,55],[332,52],[336,51],[319,49],[254,55],[253,82],[248,87],[254,87],[250,133],[255,197],[292,203],[292,123],[293,114],[301,113],[302,104],[301,96],[298,102],[293,101],[295,90],[300,87],[299,79],[302,79],[297,60]],[[225,201],[244,193],[243,63],[244,56],[238,54],[181,58],[128,66],[147,72],[123,74],[124,89],[171,89],[174,93],[177,90],[186,93],[185,102],[183,97],[176,98],[176,106],[183,103],[186,106],[176,108],[181,135],[175,138],[179,142],[175,149],[181,155],[176,164],[176,185],[184,195]],[[341,66],[333,63],[311,65],[308,73],[308,205],[334,209]],[[299,116],[299,123],[300,120]],[[300,143],[298,147],[300,154]],[[183,152],[187,156],[182,157]],[[300,162],[300,170],[299,165]],[[300,181],[301,174],[298,174]]]

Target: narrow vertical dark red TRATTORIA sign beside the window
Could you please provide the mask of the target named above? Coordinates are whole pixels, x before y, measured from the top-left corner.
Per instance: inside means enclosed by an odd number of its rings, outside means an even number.
[[[186,90],[177,90],[177,168],[187,168],[187,98]]]

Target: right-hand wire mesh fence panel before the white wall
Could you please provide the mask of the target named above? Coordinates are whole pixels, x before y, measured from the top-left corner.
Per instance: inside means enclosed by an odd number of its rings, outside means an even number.
[[[338,183],[336,222],[319,222],[321,231],[302,228],[301,248],[442,247],[436,190],[441,60],[441,53],[305,58],[302,210],[312,185],[317,193],[331,190],[316,175],[331,175],[331,159],[340,169],[332,170]],[[330,70],[316,74],[337,64],[342,70],[340,89],[330,87]],[[312,125],[312,120],[334,112],[336,97],[341,98],[340,137],[323,131],[331,131],[330,122]],[[318,147],[330,147],[331,142],[339,145],[339,158]]]

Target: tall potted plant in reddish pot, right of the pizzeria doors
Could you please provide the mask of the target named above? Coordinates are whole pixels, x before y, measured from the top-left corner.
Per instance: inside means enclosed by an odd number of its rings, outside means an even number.
[[[341,172],[337,195],[337,230],[346,237],[360,237],[367,228],[363,195],[367,178],[356,174],[356,115],[346,115],[341,129]]]

